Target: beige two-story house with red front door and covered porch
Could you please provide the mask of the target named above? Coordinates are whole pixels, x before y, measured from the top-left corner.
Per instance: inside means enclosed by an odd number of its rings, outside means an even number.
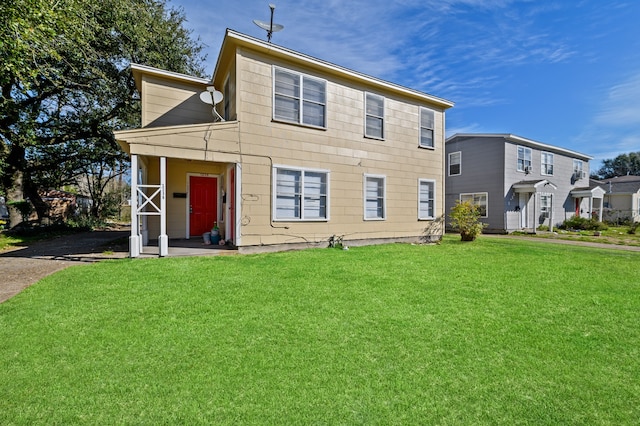
[[[241,252],[442,236],[452,102],[232,30],[211,80],[131,69],[132,257],[214,222]]]

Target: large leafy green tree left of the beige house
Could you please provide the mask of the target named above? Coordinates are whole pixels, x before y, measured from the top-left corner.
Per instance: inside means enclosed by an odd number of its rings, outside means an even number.
[[[3,0],[0,14],[0,193],[42,218],[39,188],[97,173],[99,204],[126,162],[113,130],[139,124],[128,65],[202,75],[200,41],[165,0]]]

